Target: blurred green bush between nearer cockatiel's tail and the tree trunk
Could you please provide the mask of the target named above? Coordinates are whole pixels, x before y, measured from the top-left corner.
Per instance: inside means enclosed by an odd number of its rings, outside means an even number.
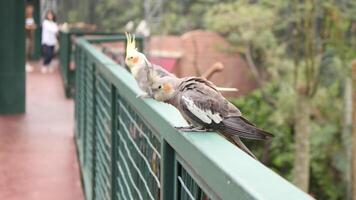
[[[272,85],[267,87],[267,91],[271,93],[277,90]],[[256,90],[243,98],[231,99],[231,102],[241,108],[241,112],[245,114],[245,117],[253,121],[258,127],[274,134],[275,137],[270,141],[268,147],[268,158],[263,156],[266,153],[266,149],[261,142],[246,142],[254,153],[259,158],[262,158],[265,164],[282,176],[291,179],[293,132],[290,124],[284,123],[283,114],[264,101],[260,90]]]

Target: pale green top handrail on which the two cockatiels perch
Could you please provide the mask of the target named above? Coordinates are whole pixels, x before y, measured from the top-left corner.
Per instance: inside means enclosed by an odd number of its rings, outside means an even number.
[[[219,134],[177,131],[174,126],[186,125],[178,111],[152,99],[136,98],[141,91],[130,73],[90,42],[90,39],[80,38],[77,45],[94,58],[97,70],[174,149],[209,196],[218,199],[313,199]]]

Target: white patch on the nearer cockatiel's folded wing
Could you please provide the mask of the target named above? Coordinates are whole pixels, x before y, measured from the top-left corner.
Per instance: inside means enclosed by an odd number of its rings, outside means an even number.
[[[200,109],[191,98],[182,96],[182,99],[186,103],[188,110],[204,123],[211,124],[214,121],[219,124],[223,120],[219,113],[213,114],[211,110]]]

